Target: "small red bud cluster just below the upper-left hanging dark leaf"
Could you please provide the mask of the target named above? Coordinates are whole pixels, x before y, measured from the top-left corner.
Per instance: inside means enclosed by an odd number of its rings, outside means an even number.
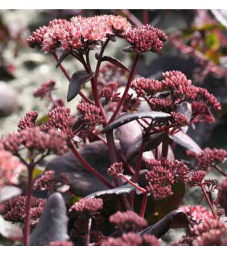
[[[80,119],[88,126],[98,126],[104,122],[101,110],[98,108],[98,106],[85,103],[85,101],[82,100],[80,103],[78,103],[77,109],[82,114]]]

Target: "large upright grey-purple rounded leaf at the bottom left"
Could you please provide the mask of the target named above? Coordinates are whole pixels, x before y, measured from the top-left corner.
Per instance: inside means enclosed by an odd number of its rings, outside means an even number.
[[[30,245],[43,246],[52,241],[68,241],[68,217],[60,193],[48,197],[40,221],[30,237]]]

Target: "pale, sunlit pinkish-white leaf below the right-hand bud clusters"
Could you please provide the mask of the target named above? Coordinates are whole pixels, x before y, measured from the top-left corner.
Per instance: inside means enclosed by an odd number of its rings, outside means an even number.
[[[176,133],[174,135],[169,134],[169,138],[179,144],[182,147],[185,147],[185,149],[193,151],[195,153],[199,153],[202,149],[199,147],[197,143],[195,143],[194,140],[187,134],[180,131],[179,133]]]

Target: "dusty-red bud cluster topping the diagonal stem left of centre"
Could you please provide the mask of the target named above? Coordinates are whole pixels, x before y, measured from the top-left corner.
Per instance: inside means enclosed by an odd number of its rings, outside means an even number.
[[[67,136],[68,140],[72,140],[74,134],[72,133],[71,126],[73,120],[70,116],[71,110],[65,106],[57,106],[48,113],[49,120],[45,123],[43,129],[46,132],[50,130],[61,130]]]

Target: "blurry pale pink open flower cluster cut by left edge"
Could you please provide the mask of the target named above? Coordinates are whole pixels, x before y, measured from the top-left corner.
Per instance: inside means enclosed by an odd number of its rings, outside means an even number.
[[[4,150],[0,143],[0,188],[9,184],[18,184],[19,174],[25,170],[24,164],[12,153]]]

